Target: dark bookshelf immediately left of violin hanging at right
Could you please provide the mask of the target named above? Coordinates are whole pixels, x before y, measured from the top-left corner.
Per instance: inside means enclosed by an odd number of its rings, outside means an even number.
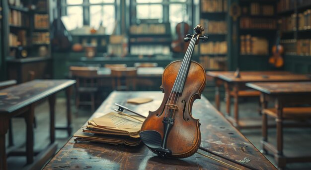
[[[235,70],[270,70],[269,57],[276,42],[277,0],[240,0],[239,36]],[[235,55],[235,54],[234,54]],[[233,55],[233,56],[234,56]]]

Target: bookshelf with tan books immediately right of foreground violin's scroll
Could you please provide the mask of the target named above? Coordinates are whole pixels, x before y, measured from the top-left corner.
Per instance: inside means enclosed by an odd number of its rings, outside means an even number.
[[[199,62],[205,70],[227,70],[227,14],[227,0],[200,1],[200,23],[209,35],[207,42],[199,44]]]

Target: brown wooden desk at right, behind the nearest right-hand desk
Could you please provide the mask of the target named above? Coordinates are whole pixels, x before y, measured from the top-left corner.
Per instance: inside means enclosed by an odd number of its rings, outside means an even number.
[[[236,128],[260,128],[260,125],[246,125],[246,122],[239,121],[238,117],[238,98],[241,96],[241,90],[249,89],[245,84],[248,82],[284,82],[284,81],[311,81],[311,76],[302,74],[265,74],[265,75],[241,75],[236,78],[233,74],[222,74],[218,76],[225,82],[226,89],[226,104],[227,104],[227,118],[233,123]],[[231,110],[231,96],[234,99],[234,115],[230,114]],[[259,94],[256,96],[259,96]]]

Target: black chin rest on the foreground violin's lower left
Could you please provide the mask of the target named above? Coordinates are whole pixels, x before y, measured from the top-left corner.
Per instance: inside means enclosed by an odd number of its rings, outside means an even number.
[[[162,138],[159,132],[155,130],[145,130],[139,133],[144,144],[157,155],[167,157],[172,151],[162,148]]]

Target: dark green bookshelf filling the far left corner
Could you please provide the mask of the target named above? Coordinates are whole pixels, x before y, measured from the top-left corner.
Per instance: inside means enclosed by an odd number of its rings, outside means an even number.
[[[35,78],[50,78],[50,25],[53,20],[49,6],[54,0],[1,0],[3,20],[1,35],[5,79],[18,83]],[[17,55],[22,54],[22,55]]]

